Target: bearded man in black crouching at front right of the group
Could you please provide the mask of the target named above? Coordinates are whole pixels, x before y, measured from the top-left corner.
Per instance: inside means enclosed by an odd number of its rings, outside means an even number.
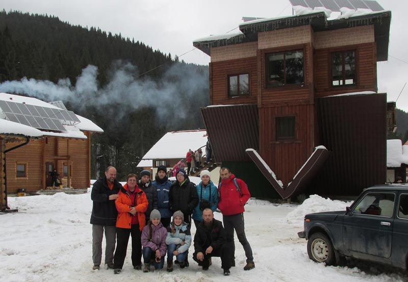
[[[230,275],[232,248],[231,243],[226,241],[222,223],[214,218],[209,208],[202,211],[202,219],[194,236],[193,260],[203,270],[208,270],[211,257],[221,257],[224,275]]]

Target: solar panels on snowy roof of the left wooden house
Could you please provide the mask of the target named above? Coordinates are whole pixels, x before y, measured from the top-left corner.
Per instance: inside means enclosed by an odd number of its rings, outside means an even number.
[[[36,129],[65,131],[61,121],[80,122],[72,111],[0,100],[0,108],[10,121]]]

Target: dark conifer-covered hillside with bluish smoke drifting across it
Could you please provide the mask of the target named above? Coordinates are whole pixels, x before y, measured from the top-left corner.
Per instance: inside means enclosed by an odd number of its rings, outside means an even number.
[[[105,131],[92,138],[92,162],[97,160],[100,170],[116,166],[121,180],[136,171],[164,133],[204,127],[200,107],[208,105],[207,66],[99,28],[5,10],[0,46],[2,92],[62,100],[91,119]],[[15,87],[7,88],[6,81]],[[30,89],[33,84],[43,88]]]

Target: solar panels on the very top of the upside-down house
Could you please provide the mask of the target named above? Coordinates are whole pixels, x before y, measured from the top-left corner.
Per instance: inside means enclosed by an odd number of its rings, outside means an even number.
[[[349,9],[371,9],[374,12],[382,11],[382,8],[374,0],[289,0],[292,6],[303,6],[314,9],[315,7],[325,7],[331,11],[340,12],[340,8]]]

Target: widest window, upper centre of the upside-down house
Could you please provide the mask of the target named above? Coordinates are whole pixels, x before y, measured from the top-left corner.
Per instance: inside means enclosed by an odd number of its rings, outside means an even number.
[[[303,50],[266,55],[266,84],[268,87],[303,83]]]

